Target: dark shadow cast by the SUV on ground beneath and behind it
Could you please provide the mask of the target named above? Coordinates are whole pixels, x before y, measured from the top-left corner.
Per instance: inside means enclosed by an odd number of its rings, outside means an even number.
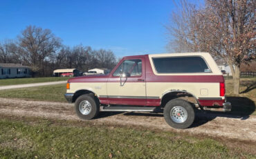
[[[196,110],[196,118],[194,120],[194,123],[192,124],[192,127],[199,127],[207,122],[210,122],[211,120],[214,120],[214,118],[217,117],[223,117],[223,118],[237,118],[241,120],[246,120],[250,118],[250,115],[255,113],[255,102],[253,100],[250,100],[248,97],[227,97],[227,101],[231,102],[232,104],[232,111],[230,112],[217,112],[217,111],[197,111]],[[118,115],[120,113],[124,112],[100,112],[100,115],[98,118],[106,118],[111,115]],[[148,117],[159,117],[163,118],[163,113],[140,113],[140,112],[127,112],[123,115],[129,115],[131,116],[145,116],[145,118]]]

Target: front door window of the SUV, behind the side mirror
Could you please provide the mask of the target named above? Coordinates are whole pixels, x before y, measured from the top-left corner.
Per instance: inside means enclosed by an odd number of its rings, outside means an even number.
[[[113,73],[113,76],[119,77],[121,73],[129,73],[132,76],[140,76],[142,73],[142,62],[140,59],[127,59]]]

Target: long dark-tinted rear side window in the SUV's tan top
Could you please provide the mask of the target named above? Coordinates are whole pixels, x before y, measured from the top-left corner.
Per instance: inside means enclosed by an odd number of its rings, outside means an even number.
[[[158,73],[209,73],[210,69],[201,57],[153,58]]]

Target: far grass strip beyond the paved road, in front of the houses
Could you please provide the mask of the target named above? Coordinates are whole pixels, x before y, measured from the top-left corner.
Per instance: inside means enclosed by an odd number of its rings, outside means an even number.
[[[13,78],[13,79],[0,79],[0,86],[8,86],[14,84],[33,84],[39,82],[55,82],[64,81],[70,77],[30,77],[30,78]]]

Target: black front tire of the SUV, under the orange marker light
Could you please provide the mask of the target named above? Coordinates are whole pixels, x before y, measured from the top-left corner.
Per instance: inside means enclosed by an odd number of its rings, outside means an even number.
[[[80,104],[83,101],[88,101],[89,104],[91,104],[91,111],[89,112],[89,114],[84,115],[80,111]],[[80,97],[77,97],[77,100],[75,100],[75,113],[82,120],[91,120],[95,118],[98,115],[99,111],[100,106],[93,99],[93,95],[80,95]]]

